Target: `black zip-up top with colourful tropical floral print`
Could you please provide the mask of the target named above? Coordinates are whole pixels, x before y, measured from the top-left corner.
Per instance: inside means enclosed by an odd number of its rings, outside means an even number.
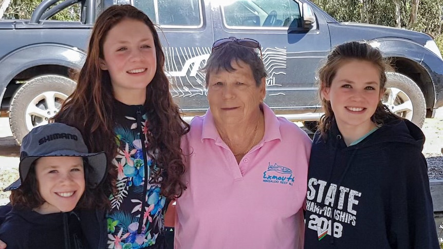
[[[113,164],[118,170],[118,194],[110,196],[107,216],[108,247],[165,248],[163,215],[166,198],[160,195],[161,177],[147,153],[148,122],[142,105],[116,103],[115,133],[119,146]]]

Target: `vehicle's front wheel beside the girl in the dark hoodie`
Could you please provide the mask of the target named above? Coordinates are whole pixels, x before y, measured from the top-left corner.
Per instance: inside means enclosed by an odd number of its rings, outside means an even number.
[[[400,73],[388,72],[386,78],[382,103],[393,113],[421,128],[426,118],[426,101],[420,87]]]

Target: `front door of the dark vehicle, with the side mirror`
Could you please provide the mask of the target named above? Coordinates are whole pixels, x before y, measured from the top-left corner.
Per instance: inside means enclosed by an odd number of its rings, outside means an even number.
[[[303,30],[303,3],[296,0],[218,3],[212,11],[215,40],[235,36],[261,43],[269,74],[265,102],[274,112],[294,114],[318,109],[315,74],[320,61],[330,51],[324,17],[315,16],[314,25]]]

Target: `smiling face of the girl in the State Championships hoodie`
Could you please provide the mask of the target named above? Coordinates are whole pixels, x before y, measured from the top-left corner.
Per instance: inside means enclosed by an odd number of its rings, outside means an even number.
[[[371,117],[383,94],[379,75],[371,62],[350,60],[338,68],[330,87],[322,89],[340,130],[359,130],[364,135],[376,126]]]

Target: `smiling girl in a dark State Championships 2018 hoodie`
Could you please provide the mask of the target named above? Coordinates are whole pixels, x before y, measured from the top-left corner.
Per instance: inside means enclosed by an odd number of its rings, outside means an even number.
[[[388,63],[337,46],[319,71],[325,111],[309,163],[305,248],[439,248],[424,135],[381,103]]]

